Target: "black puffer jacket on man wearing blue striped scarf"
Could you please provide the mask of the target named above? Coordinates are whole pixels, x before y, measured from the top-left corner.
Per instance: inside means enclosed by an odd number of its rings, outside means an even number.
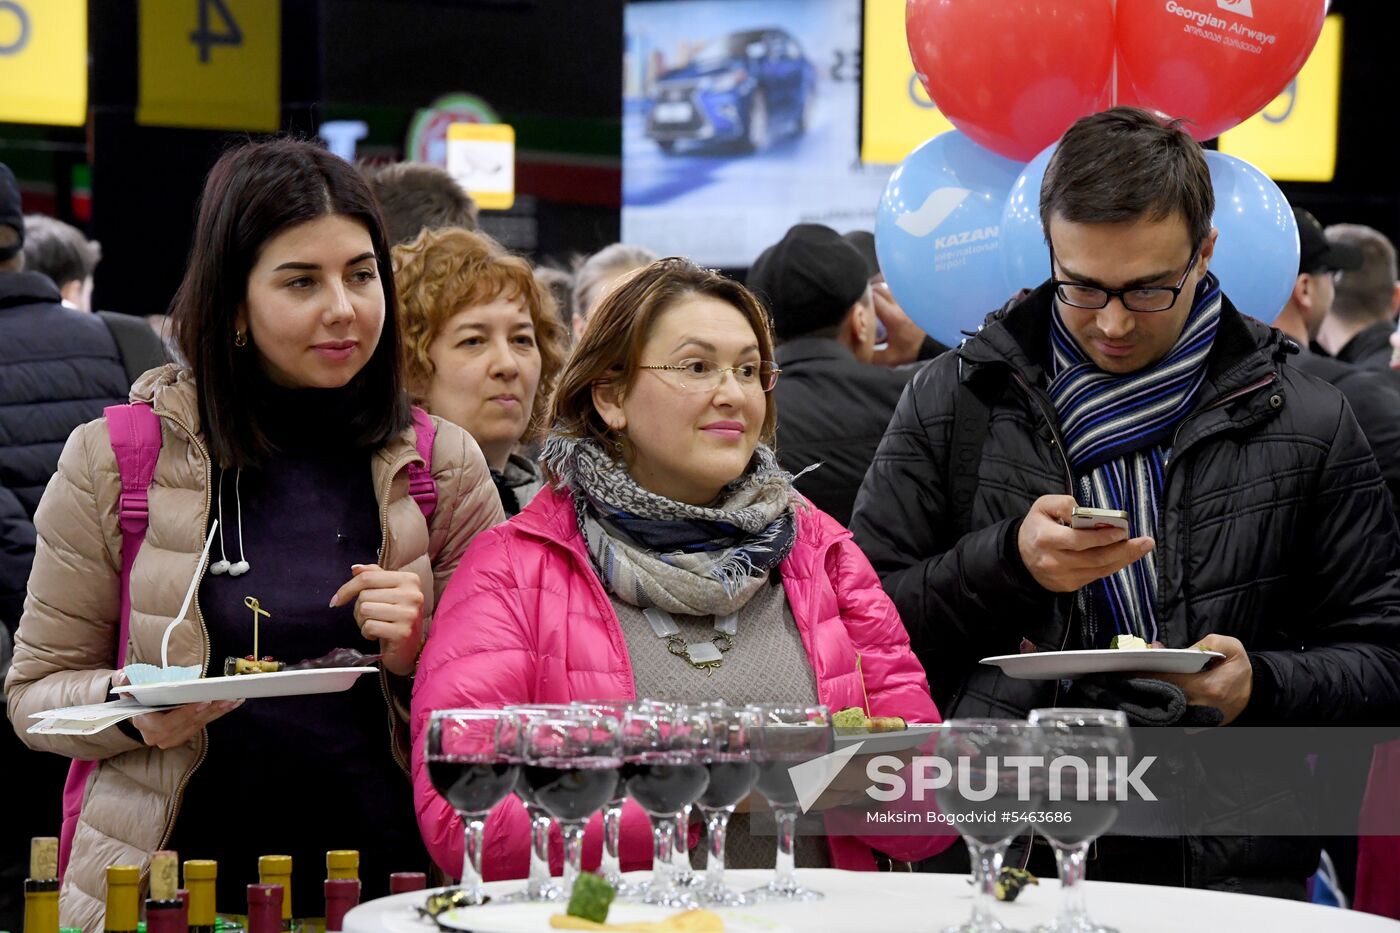
[[[979,658],[1014,654],[1022,639],[1039,650],[1079,646],[1074,594],[1036,584],[1016,546],[1036,499],[1075,489],[1044,392],[1050,301],[1042,286],[910,382],[857,499],[855,541],[899,607],[945,716],[1019,719],[1056,705],[1058,682],[1011,679]],[[1393,723],[1400,531],[1341,394],[1282,364],[1295,349],[1225,301],[1207,381],[1168,462],[1159,637],[1187,647],[1215,632],[1245,644],[1254,685],[1242,723]],[[990,406],[962,535],[949,506],[960,380]],[[1229,731],[1203,741],[1228,742]],[[1305,814],[1302,768],[1291,747],[1242,762],[1233,780],[1205,782],[1201,806]],[[1301,895],[1317,864],[1308,839],[1182,845],[1182,883],[1193,887]]]

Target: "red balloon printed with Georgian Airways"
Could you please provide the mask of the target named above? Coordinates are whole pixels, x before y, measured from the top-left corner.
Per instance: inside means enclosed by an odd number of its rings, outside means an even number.
[[[1119,0],[1119,101],[1214,139],[1288,87],[1326,17],[1324,0]]]

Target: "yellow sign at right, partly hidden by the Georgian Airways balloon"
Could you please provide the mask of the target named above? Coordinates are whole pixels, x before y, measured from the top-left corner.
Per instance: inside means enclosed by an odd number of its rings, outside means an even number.
[[[1219,139],[1219,150],[1277,181],[1329,182],[1337,171],[1341,17],[1330,15],[1298,77]]]

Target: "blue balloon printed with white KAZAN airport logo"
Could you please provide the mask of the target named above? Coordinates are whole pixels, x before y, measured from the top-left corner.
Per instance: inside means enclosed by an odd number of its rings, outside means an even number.
[[[949,130],[889,177],[875,217],[879,268],[909,317],[944,343],[959,343],[1011,294],[1000,226],[1018,174],[1021,163]]]

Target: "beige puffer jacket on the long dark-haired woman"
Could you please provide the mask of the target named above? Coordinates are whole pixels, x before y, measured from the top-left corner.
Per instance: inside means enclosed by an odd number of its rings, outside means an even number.
[[[179,611],[204,544],[211,465],[199,436],[195,382],[188,370],[151,370],[132,388],[132,398],[153,402],[161,417],[162,447],[150,490],[146,544],[132,567],[127,660],[160,664],[161,635]],[[434,422],[438,504],[430,527],[409,496],[406,466],[421,462],[413,429],[371,461],[382,503],[379,565],[419,574],[426,619],[468,542],[504,518],[476,441],[455,424]],[[90,933],[102,927],[106,866],[140,864],[144,873],[150,855],[169,838],[181,792],[203,759],[207,741],[204,733],[181,748],[160,751],[119,728],[90,737],[24,733],[31,713],[109,699],[120,607],[119,493],[106,422],[78,427],[35,514],[38,551],[14,664],[4,684],[10,719],[31,748],[102,762],[84,794],[60,894],[63,925]],[[209,640],[197,600],[192,615],[196,623],[179,625],[171,636],[171,664],[204,664],[207,671]],[[395,706],[398,728],[407,710]],[[59,820],[60,814],[53,814],[55,831]]]

